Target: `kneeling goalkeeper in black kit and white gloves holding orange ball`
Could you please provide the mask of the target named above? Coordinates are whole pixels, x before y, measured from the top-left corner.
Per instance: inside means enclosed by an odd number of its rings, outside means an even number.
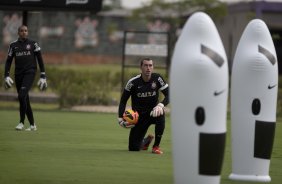
[[[152,73],[154,69],[152,59],[142,59],[140,69],[141,74],[131,78],[123,90],[118,109],[118,123],[124,128],[131,128],[129,151],[148,150],[150,143],[155,138],[152,153],[163,154],[160,142],[165,129],[164,106],[169,103],[169,87],[160,74]],[[159,102],[159,91],[164,94],[161,102]],[[139,113],[138,123],[135,125],[122,118],[129,97],[131,97],[132,109]],[[152,124],[155,124],[155,137],[149,134],[145,138]]]

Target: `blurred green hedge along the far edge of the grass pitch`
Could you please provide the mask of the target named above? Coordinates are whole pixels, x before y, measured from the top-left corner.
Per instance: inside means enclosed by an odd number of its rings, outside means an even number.
[[[121,90],[121,71],[112,68],[95,70],[81,70],[74,68],[47,66],[48,91],[59,96],[61,108],[74,105],[112,105],[117,101],[113,93],[119,96]],[[136,75],[138,70],[125,73],[125,79]],[[11,74],[13,75],[13,74]],[[165,76],[163,74],[163,76]],[[279,90],[277,100],[277,114],[282,115],[282,76],[279,76]],[[35,79],[38,80],[38,75]],[[167,79],[166,79],[167,80]],[[0,85],[4,86],[4,80]],[[4,90],[4,88],[2,88]],[[15,89],[12,89],[15,90]],[[38,90],[33,88],[33,90]],[[48,92],[47,91],[47,92]]]

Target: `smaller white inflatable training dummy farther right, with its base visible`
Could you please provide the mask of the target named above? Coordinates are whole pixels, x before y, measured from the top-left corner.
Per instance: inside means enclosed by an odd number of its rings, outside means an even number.
[[[232,67],[230,179],[271,180],[277,90],[275,47],[266,24],[255,19],[242,34]]]

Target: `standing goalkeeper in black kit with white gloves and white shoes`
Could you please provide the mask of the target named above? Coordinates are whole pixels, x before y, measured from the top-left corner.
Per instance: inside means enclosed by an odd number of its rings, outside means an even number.
[[[24,129],[26,115],[30,123],[30,127],[26,130],[35,131],[37,130],[37,127],[34,123],[28,92],[32,87],[35,78],[37,63],[41,72],[40,80],[38,81],[39,88],[40,90],[47,88],[45,69],[38,43],[27,38],[27,26],[20,26],[18,28],[18,35],[18,40],[12,42],[9,46],[4,72],[5,87],[10,88],[14,83],[10,77],[10,68],[13,58],[15,58],[15,83],[20,104],[20,122],[16,127],[16,130]]]

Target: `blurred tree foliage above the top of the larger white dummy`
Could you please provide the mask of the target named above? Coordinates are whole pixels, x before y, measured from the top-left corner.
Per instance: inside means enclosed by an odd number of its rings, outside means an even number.
[[[162,18],[172,26],[182,27],[187,17],[196,11],[204,11],[214,20],[218,20],[227,14],[227,6],[219,0],[178,0],[174,2],[152,0],[141,8],[133,10],[131,18],[145,19],[145,21]]]

